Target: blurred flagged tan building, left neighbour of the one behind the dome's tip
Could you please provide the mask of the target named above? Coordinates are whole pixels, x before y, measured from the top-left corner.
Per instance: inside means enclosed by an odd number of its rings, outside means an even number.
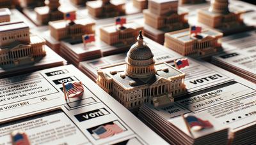
[[[49,22],[51,36],[60,41],[61,39],[81,39],[84,34],[95,33],[95,21],[90,18],[70,20],[58,20]]]

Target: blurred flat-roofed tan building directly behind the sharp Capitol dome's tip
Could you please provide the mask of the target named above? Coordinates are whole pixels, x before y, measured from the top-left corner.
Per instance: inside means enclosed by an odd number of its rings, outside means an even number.
[[[131,45],[136,41],[138,31],[143,31],[143,26],[134,22],[128,22],[123,26],[105,25],[100,28],[100,39],[108,45],[123,43]]]

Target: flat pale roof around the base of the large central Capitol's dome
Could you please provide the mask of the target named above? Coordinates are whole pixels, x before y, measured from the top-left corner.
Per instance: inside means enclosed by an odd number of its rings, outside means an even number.
[[[169,64],[166,63],[159,63],[155,64],[156,68],[156,75],[150,77],[150,78],[143,78],[143,79],[138,79],[138,78],[131,78],[127,75],[125,77],[122,77],[122,75],[125,74],[125,67],[126,64],[116,64],[116,66],[109,66],[109,67],[102,67],[100,68],[100,71],[104,72],[104,75],[106,78],[112,78],[113,81],[116,81],[120,83],[121,85],[125,86],[125,88],[132,88],[136,86],[143,86],[143,85],[152,85],[155,83],[157,80],[164,78],[164,79],[172,79],[176,78],[179,76],[184,76],[185,74],[174,67],[170,66]],[[166,71],[168,70],[168,71]],[[116,71],[116,74],[111,74],[111,71]],[[136,82],[133,83],[131,86],[131,82]]]

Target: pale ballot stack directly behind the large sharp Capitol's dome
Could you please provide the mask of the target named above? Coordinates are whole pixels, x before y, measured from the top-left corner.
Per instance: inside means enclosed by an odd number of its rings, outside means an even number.
[[[151,52],[154,54],[154,59],[156,62],[172,62],[180,56],[178,53],[169,50],[163,45],[159,45],[147,37],[144,37],[144,41],[150,48]],[[89,76],[89,78],[95,81],[97,79],[97,69],[99,67],[106,67],[111,66],[112,64],[125,62],[126,56],[127,53],[120,53],[107,57],[101,57],[99,59],[83,61],[79,63],[79,69],[83,71],[87,76]]]

